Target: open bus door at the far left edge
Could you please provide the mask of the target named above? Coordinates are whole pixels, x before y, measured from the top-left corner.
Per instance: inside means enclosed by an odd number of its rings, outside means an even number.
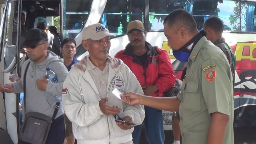
[[[9,0],[6,3],[5,20],[2,33],[2,55],[3,62],[3,80],[2,84],[11,83],[8,79],[10,74],[16,74],[19,69],[19,47],[20,47],[20,2],[18,0]],[[19,94],[4,93],[4,103],[6,110],[6,124],[8,133],[14,143],[18,142],[19,130]]]

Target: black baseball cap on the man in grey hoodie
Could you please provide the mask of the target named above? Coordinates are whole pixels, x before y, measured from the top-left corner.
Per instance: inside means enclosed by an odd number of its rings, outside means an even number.
[[[26,33],[22,46],[36,46],[41,40],[48,41],[46,32],[39,28],[32,28]]]

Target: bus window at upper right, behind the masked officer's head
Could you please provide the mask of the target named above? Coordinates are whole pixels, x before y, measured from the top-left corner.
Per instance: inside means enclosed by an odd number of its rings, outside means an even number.
[[[256,2],[231,0],[197,0],[193,4],[192,14],[201,30],[202,22],[210,16],[218,16],[223,21],[224,31],[255,32]],[[201,23],[200,23],[201,22]]]

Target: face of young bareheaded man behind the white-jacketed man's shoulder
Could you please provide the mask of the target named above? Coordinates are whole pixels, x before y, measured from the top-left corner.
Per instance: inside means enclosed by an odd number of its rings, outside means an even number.
[[[64,44],[60,50],[63,52],[64,57],[73,58],[76,54],[76,45],[73,42],[69,42]]]

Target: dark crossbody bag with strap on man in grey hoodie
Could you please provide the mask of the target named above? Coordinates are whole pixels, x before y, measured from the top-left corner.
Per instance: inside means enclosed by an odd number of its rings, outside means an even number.
[[[26,73],[28,71],[28,67],[30,62],[28,62],[28,66],[26,67],[23,79],[23,87],[24,87],[24,110],[25,110],[25,97],[26,97]],[[31,144],[45,144],[48,133],[51,128],[52,120],[54,120],[58,109],[59,109],[60,102],[56,103],[54,114],[52,119],[45,114],[41,114],[39,112],[25,112],[25,120],[22,124],[22,128],[20,130],[19,138],[24,142],[29,142]]]

